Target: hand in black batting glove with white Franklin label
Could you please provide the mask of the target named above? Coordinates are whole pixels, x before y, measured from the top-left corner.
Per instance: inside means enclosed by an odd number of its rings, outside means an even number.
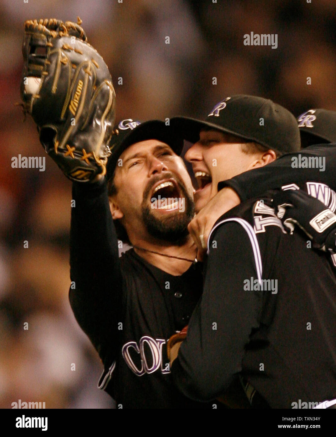
[[[313,247],[336,252],[336,215],[324,203],[304,191],[286,190],[274,196],[273,205],[289,232],[298,225],[312,240]]]

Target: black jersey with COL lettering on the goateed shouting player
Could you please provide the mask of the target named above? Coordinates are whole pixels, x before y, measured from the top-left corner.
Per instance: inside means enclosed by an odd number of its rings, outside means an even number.
[[[99,388],[117,408],[209,408],[173,386],[166,354],[201,295],[202,266],[172,276],[134,250],[119,258],[106,184],[84,185],[73,184],[69,299],[103,361]]]

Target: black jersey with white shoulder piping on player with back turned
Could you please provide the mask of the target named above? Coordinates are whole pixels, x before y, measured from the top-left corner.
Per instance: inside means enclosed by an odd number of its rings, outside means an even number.
[[[272,408],[336,398],[332,264],[270,205],[246,201],[211,232],[203,295],[171,369],[191,399],[216,398],[237,374]]]

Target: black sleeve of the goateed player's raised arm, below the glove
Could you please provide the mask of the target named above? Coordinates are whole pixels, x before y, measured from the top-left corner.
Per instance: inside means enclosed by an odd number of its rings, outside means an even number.
[[[74,182],[73,201],[70,305],[104,366],[110,366],[121,316],[122,276],[106,183]]]

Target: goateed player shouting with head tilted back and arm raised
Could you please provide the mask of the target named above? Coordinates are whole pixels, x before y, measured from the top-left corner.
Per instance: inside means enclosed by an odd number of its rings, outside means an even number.
[[[188,323],[202,284],[187,232],[193,187],[173,152],[181,140],[167,131],[131,118],[114,128],[110,205],[106,180],[73,184],[70,303],[104,363],[98,386],[122,408],[196,406],[171,385],[166,356],[166,340]],[[133,245],[121,259],[113,219]]]

